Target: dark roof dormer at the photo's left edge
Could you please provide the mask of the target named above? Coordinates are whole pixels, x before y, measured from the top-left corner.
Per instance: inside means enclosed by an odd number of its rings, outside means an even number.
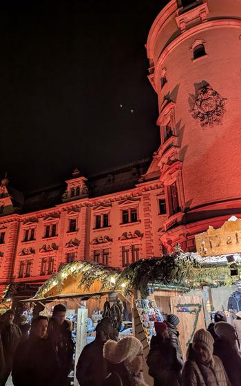
[[[9,186],[7,176],[0,185],[0,216],[18,213],[23,206],[23,194]]]

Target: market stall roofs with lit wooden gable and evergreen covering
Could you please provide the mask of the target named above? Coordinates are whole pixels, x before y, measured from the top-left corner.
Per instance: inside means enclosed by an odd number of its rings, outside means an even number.
[[[241,254],[201,257],[193,252],[178,252],[162,258],[140,259],[120,271],[90,261],[75,261],[62,267],[42,285],[32,301],[66,297],[90,297],[131,292],[147,294],[149,285],[193,287],[193,283],[211,285],[217,281],[231,284],[231,264],[241,267]]]

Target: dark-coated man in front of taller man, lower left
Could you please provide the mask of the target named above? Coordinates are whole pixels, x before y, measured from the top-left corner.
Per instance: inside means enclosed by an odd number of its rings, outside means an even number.
[[[58,386],[59,360],[47,336],[48,318],[37,316],[27,340],[17,347],[12,365],[14,386]]]

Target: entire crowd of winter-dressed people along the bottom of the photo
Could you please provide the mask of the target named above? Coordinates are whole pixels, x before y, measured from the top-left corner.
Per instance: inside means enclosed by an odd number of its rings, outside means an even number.
[[[0,386],[12,372],[14,386],[67,386],[74,343],[64,305],[56,305],[52,318],[37,316],[32,325],[14,323],[9,309],[0,323]],[[144,358],[143,345],[134,336],[113,341],[112,320],[96,326],[95,340],[78,358],[76,378],[81,386],[148,386],[143,377],[146,360],[154,386],[240,386],[241,356],[238,335],[217,312],[208,329],[199,329],[184,362],[179,341],[178,316],[155,322],[156,335]],[[240,327],[240,325],[239,325]],[[30,334],[28,330],[30,329]]]

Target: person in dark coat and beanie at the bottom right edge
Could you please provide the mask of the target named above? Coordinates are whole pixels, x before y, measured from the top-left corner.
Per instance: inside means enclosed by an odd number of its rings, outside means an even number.
[[[237,335],[232,325],[218,322],[214,326],[218,338],[213,345],[213,354],[218,356],[224,365],[232,386],[241,385],[241,356],[238,352]]]

